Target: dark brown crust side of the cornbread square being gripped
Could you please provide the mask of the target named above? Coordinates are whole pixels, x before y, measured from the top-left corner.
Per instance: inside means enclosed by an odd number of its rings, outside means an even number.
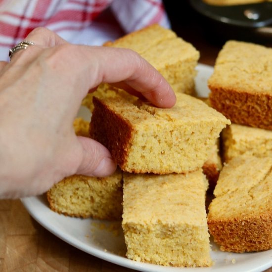
[[[133,127],[130,122],[110,110],[95,96],[93,97],[94,110],[91,116],[91,138],[106,146],[112,158],[122,169],[128,157],[128,150],[133,135]],[[105,116],[107,118],[105,119]],[[112,126],[116,124],[116,126]],[[99,130],[94,129],[99,127]],[[108,130],[108,128],[111,128]],[[121,131],[119,130],[121,128]],[[122,132],[122,134],[121,134]]]

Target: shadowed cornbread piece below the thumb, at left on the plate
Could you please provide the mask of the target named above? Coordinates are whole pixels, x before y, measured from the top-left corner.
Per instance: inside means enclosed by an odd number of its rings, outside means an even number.
[[[122,216],[123,177],[120,169],[106,178],[74,175],[51,187],[47,193],[54,212],[72,217],[117,220]]]

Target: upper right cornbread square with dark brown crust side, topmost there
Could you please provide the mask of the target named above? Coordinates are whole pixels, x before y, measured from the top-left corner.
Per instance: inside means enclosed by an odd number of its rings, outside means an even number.
[[[212,107],[231,122],[272,130],[272,48],[228,41],[208,80]]]

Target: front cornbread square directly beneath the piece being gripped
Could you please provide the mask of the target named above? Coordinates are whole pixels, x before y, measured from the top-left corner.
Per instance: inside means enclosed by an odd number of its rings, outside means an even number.
[[[212,265],[202,171],[124,173],[122,227],[129,259],[164,266]]]

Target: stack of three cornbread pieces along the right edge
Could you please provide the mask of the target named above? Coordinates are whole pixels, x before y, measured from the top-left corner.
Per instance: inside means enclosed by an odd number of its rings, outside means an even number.
[[[272,48],[228,41],[208,80],[209,100],[232,122],[208,225],[221,250],[272,248]]]

